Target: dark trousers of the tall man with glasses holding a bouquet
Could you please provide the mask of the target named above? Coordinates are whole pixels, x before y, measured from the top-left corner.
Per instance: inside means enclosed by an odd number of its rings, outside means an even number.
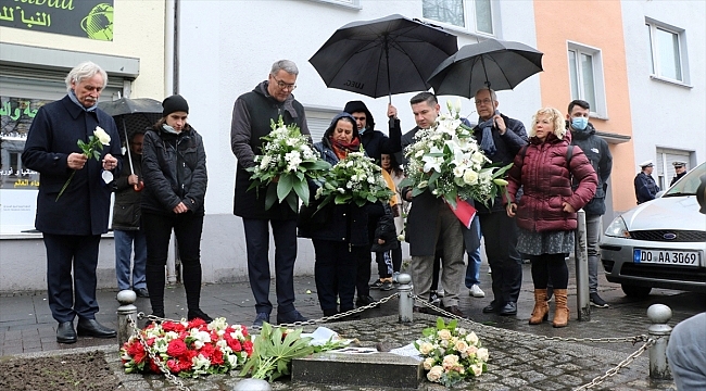
[[[269,302],[269,226],[275,239],[275,289],[277,312],[294,311],[294,261],[297,261],[297,220],[243,218],[248,248],[248,278],[257,313],[272,313]]]

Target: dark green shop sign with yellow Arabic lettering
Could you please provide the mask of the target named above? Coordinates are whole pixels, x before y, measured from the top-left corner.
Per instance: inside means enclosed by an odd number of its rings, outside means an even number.
[[[0,26],[113,40],[113,0],[0,0]]]

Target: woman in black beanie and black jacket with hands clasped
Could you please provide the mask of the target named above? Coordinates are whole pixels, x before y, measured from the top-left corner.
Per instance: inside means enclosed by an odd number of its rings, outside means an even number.
[[[187,293],[187,317],[211,321],[199,307],[206,154],[201,136],[187,124],[187,101],[176,94],[166,98],[162,106],[163,116],[144,135],[142,151],[142,226],[152,314],[164,317],[164,267],[174,229]]]

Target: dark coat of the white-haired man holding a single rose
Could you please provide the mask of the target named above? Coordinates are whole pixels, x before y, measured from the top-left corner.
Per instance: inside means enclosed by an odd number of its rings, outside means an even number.
[[[81,139],[88,142],[96,126],[111,137],[110,146],[101,151],[97,161],[89,159],[81,169],[71,169],[67,157],[81,153],[76,144]],[[37,194],[37,218],[35,227],[54,235],[101,235],[108,232],[111,190],[102,179],[102,159],[110,153],[118,161],[113,175],[117,177],[123,154],[117,127],[113,117],[100,109],[87,112],[74,103],[68,96],[45,104],[39,109],[29,127],[22,162],[25,167],[40,174]],[[72,173],[71,184],[56,200]]]

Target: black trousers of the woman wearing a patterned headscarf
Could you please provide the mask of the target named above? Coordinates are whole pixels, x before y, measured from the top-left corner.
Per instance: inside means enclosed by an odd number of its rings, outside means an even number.
[[[316,252],[314,279],[322,311],[338,310],[336,299],[342,312],[353,310],[357,265],[349,244],[319,239],[312,239],[312,242]]]

